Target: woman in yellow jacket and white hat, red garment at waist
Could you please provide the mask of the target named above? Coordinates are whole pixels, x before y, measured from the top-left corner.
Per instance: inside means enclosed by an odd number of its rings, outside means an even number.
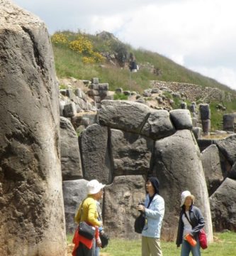
[[[97,180],[91,180],[86,185],[88,190],[88,196],[80,204],[79,210],[77,211],[77,214],[74,217],[74,221],[78,224],[81,221],[85,221],[89,225],[94,226],[94,228],[96,228],[96,234],[95,239],[89,240],[87,238],[84,238],[82,235],[79,235],[79,233],[75,233],[73,238],[73,256],[93,256],[95,240],[96,244],[101,247],[101,240],[99,238],[98,228],[102,226],[102,223],[101,221],[98,220],[99,213],[97,211],[96,201],[99,201],[99,199],[103,195],[104,186],[105,185],[99,183],[99,181]]]

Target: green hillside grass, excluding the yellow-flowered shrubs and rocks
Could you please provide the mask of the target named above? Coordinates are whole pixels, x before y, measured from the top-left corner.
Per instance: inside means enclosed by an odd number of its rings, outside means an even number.
[[[79,33],[73,33],[70,31],[64,31],[62,33],[67,35],[69,41],[74,40],[79,35]],[[94,46],[94,50],[100,53],[108,52],[113,55],[120,52],[126,52],[127,55],[129,55],[129,53],[133,53],[138,64],[145,65],[145,63],[148,63],[148,65],[146,68],[141,68],[137,73],[130,73],[130,70],[127,67],[121,68],[118,65],[111,65],[109,63],[84,64],[82,62],[83,55],[69,49],[68,44],[52,43],[55,55],[55,68],[58,78],[74,77],[79,80],[99,78],[99,82],[108,82],[109,90],[115,91],[118,87],[122,87],[123,90],[130,90],[131,87],[132,91],[139,92],[140,94],[143,90],[150,88],[150,80],[187,82],[202,87],[218,87],[220,90],[225,91],[225,95],[228,95],[229,93],[236,95],[235,90],[230,89],[230,87],[184,68],[158,53],[153,53],[149,50],[134,49],[132,46],[117,41],[112,37],[103,40],[94,35],[82,34],[91,41]],[[150,66],[159,69],[161,71],[160,74],[156,75],[150,73],[150,70],[148,70],[148,67]],[[61,85],[61,88],[63,88],[63,85]],[[171,95],[166,96],[174,100],[174,104],[172,105],[173,109],[179,108],[181,103],[179,98],[172,97]],[[116,99],[120,99],[120,97],[118,96]],[[200,103],[199,99],[196,99],[196,102]],[[215,106],[219,103],[226,107],[225,111],[216,110]],[[222,129],[223,114],[236,112],[236,100],[232,97],[231,101],[210,102],[210,111],[211,131],[213,132],[216,129]]]

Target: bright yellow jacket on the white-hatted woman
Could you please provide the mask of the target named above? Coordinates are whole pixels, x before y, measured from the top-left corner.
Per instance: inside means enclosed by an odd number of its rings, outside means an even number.
[[[94,226],[100,226],[101,221],[98,220],[99,213],[96,209],[96,200],[91,196],[88,196],[83,203],[83,213],[81,212],[82,203],[79,206],[79,210],[74,217],[74,221],[79,223],[80,221],[86,221]],[[82,214],[82,216],[81,216]]]

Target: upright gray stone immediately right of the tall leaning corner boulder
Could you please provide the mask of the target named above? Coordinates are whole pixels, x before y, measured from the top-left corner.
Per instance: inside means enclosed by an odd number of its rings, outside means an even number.
[[[219,153],[218,147],[215,145],[208,146],[208,148],[201,153],[201,161],[209,196],[216,191],[224,180]]]

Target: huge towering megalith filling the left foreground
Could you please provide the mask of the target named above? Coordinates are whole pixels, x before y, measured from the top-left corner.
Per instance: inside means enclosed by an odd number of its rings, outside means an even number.
[[[0,255],[66,255],[50,37],[8,0],[0,0],[0,56]]]

